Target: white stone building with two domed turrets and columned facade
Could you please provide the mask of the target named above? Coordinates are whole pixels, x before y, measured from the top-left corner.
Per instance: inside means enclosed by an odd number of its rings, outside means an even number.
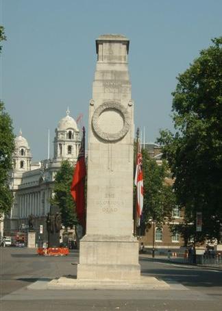
[[[10,187],[14,192],[14,205],[9,216],[4,219],[4,234],[13,236],[17,232],[25,232],[28,217],[34,215],[36,241],[47,240],[45,219],[49,212],[56,172],[62,160],[68,159],[73,164],[77,161],[81,137],[77,123],[70,116],[60,120],[54,138],[53,159],[32,162],[32,153],[27,140],[20,131],[15,138],[13,157],[14,169],[11,173]],[[43,233],[40,233],[43,225]]]

